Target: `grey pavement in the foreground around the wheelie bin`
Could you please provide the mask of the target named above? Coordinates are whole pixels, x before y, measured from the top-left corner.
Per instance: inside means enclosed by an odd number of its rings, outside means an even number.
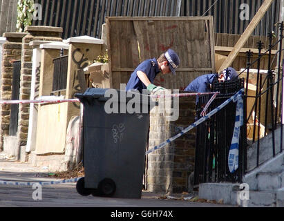
[[[0,153],[0,182],[50,182],[58,181],[50,177],[46,166],[32,166],[19,162]],[[222,202],[198,199],[198,193],[163,195],[142,192],[141,199],[100,198],[93,195],[82,196],[76,191],[76,184],[53,184],[42,186],[41,199],[34,198],[34,186],[0,184],[0,207],[235,207]],[[195,198],[195,202],[191,202]]]

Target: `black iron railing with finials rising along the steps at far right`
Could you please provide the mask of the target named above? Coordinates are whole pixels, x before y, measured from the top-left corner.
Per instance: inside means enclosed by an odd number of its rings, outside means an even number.
[[[283,150],[283,61],[281,62],[281,55],[283,49],[283,22],[279,23],[280,35],[278,41],[272,44],[273,38],[275,37],[272,33],[269,33],[269,48],[264,53],[261,53],[263,49],[263,42],[258,42],[258,58],[251,62],[252,52],[247,52],[247,68],[243,72],[247,72],[247,84],[245,88],[245,95],[247,99],[251,99],[252,108],[249,110],[247,116],[247,122],[250,122],[252,138],[250,139],[252,143],[256,143],[256,166],[259,166],[264,162],[260,160],[261,156],[261,138],[269,135],[271,133],[272,145],[267,146],[267,148],[272,148],[272,156],[275,157],[277,153],[281,153]],[[278,45],[278,50],[276,55],[272,57],[272,48]],[[260,64],[263,56],[269,57],[267,63],[267,71],[261,73]],[[277,58],[277,70],[274,72],[272,70],[272,63]],[[252,64],[257,64],[258,72],[256,77],[256,91],[255,95],[249,95],[249,68]],[[241,73],[240,73],[241,74]],[[280,142],[276,140],[275,131],[280,128]],[[278,143],[276,145],[276,142]],[[265,158],[264,158],[265,159]],[[267,159],[265,159],[267,160]]]

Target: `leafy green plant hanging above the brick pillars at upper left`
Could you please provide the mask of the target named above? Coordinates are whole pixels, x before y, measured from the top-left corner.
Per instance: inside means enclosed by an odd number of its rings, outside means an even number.
[[[32,24],[32,14],[35,2],[33,0],[18,0],[17,3],[17,31],[23,32],[26,26]]]

